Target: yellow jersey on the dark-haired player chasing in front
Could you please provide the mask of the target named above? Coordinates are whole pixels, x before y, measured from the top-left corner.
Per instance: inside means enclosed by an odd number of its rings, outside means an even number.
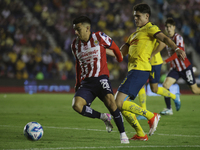
[[[156,43],[154,36],[159,32],[161,31],[156,25],[148,22],[129,36],[126,41],[129,45],[128,71],[151,71],[149,59]]]

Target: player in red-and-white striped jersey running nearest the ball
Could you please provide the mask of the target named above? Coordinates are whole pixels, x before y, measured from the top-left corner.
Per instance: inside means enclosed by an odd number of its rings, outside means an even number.
[[[76,93],[72,107],[83,116],[104,121],[108,132],[113,128],[112,115],[120,132],[121,143],[129,143],[121,112],[113,96],[106,59],[106,48],[109,48],[114,52],[118,62],[121,62],[123,58],[119,47],[106,34],[91,32],[91,20],[87,16],[75,18],[73,28],[77,38],[71,46],[76,58]],[[111,115],[100,113],[90,107],[96,97],[105,104]]]

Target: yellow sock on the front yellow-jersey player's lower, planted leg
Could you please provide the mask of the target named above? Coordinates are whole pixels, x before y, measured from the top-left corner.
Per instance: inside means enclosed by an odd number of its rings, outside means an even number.
[[[123,116],[126,118],[127,122],[135,129],[138,136],[145,136],[145,133],[140,126],[135,114],[129,111],[122,111]]]

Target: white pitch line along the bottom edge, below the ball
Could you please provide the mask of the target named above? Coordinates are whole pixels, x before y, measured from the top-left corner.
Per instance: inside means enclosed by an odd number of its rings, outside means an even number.
[[[108,149],[108,148],[197,148],[200,145],[141,145],[141,146],[100,146],[100,147],[57,147],[57,148],[29,148],[29,149],[3,149],[3,150],[62,150],[62,149]]]

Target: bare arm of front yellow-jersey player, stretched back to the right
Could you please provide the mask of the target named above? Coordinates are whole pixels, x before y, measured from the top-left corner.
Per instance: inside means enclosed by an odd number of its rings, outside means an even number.
[[[156,39],[164,42],[165,44],[167,44],[169,47],[171,47],[172,49],[175,50],[176,54],[182,59],[185,60],[186,54],[183,50],[179,49],[179,47],[169,38],[167,37],[165,34],[163,34],[162,32],[158,33],[155,35]]]

